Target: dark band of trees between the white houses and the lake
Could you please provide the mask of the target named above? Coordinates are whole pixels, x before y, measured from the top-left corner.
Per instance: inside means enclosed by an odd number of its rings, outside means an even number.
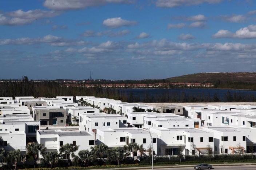
[[[253,88],[255,85],[249,83],[243,83],[244,87]],[[223,88],[237,88],[243,87],[243,84],[239,86],[239,83],[226,83],[226,87]],[[217,87],[224,86],[222,83],[216,84]],[[249,89],[251,89],[249,88]],[[247,89],[247,88],[245,88]],[[255,88],[256,89],[256,88]],[[34,97],[47,97],[52,98],[56,96],[96,96],[102,98],[109,98],[115,100],[122,100],[123,102],[256,102],[256,96],[253,94],[244,95],[240,93],[231,93],[227,91],[224,98],[215,93],[213,96],[210,94],[197,94],[187,95],[185,92],[173,92],[169,94],[169,91],[163,91],[161,94],[149,95],[145,93],[143,98],[140,98],[129,92],[124,94],[117,88],[102,88],[91,87],[84,88],[80,86],[63,86],[63,84],[55,81],[43,81],[34,82],[29,81],[26,76],[21,81],[4,81],[0,82],[0,96],[34,96]]]

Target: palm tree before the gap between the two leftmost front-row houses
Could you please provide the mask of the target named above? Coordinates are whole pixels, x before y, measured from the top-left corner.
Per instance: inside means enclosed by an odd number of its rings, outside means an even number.
[[[44,147],[43,144],[29,143],[26,145],[27,153],[34,160],[34,169],[36,168],[36,161],[39,159],[39,152],[41,155],[44,154],[47,148]]]

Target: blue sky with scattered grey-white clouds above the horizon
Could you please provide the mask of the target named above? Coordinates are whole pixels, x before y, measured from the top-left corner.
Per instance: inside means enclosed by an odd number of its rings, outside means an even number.
[[[0,1],[0,79],[255,71],[253,0]]]

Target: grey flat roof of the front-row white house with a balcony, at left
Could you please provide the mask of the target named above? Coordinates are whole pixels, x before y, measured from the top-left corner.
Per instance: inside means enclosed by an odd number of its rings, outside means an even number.
[[[38,130],[39,134],[57,134],[59,136],[92,136],[86,131]]]

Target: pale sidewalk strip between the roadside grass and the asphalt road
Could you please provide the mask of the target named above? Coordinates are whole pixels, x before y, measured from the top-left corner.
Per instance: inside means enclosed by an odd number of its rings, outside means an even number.
[[[178,167],[194,167],[195,165],[169,165],[169,166],[154,166],[154,169],[163,169],[163,168],[178,168]],[[218,163],[218,164],[211,164],[214,166],[241,166],[241,165],[256,165],[256,163]],[[152,166],[140,166],[140,167],[121,167],[121,168],[105,168],[105,170],[137,170],[137,169],[151,169]],[[104,170],[103,169],[93,169],[93,170]]]

